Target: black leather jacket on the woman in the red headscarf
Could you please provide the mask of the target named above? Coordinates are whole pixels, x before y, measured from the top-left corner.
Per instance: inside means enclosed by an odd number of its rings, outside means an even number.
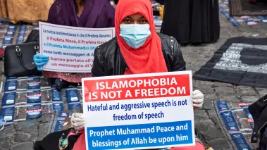
[[[185,70],[185,61],[176,39],[163,34],[159,34],[159,37],[161,38],[162,52],[168,71]],[[116,37],[94,50],[92,67],[94,77],[124,75],[127,66]],[[140,66],[140,69],[142,69],[142,66]]]

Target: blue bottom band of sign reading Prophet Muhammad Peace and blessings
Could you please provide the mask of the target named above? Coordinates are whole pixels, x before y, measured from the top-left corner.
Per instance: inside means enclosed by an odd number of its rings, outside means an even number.
[[[192,121],[87,127],[89,149],[129,149],[166,144],[191,144]]]

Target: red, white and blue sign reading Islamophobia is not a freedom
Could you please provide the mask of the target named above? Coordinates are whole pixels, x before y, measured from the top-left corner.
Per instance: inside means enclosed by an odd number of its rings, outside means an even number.
[[[87,150],[194,145],[191,71],[82,79]]]

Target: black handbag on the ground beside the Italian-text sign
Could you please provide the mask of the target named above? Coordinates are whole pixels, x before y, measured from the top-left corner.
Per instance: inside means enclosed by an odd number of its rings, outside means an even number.
[[[6,46],[4,56],[4,71],[7,77],[22,77],[40,75],[33,61],[33,56],[39,52],[39,42],[29,42]]]

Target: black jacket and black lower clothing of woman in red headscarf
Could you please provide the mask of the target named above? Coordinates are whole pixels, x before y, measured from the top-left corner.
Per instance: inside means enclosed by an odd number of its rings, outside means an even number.
[[[185,61],[176,39],[163,34],[159,34],[159,37],[161,38],[162,52],[168,71],[185,70]],[[92,67],[94,77],[124,75],[126,68],[127,64],[120,52],[116,37],[95,49]],[[68,135],[69,131],[63,130],[47,135],[42,141],[35,143],[35,150],[58,150],[59,139],[63,133]],[[73,149],[78,137],[78,135],[71,136],[66,150]]]

